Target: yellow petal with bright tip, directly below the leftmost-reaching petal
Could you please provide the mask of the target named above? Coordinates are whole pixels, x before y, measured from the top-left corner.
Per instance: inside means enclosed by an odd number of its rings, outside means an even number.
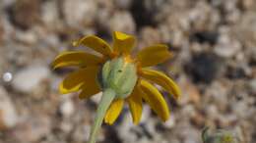
[[[62,94],[76,92],[84,84],[92,84],[96,80],[98,67],[88,67],[74,71],[67,75],[59,85],[59,91]]]

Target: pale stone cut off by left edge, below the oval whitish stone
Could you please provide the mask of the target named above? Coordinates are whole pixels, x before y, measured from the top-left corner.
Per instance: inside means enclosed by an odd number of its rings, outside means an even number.
[[[13,127],[17,121],[16,109],[7,92],[0,87],[0,129]]]

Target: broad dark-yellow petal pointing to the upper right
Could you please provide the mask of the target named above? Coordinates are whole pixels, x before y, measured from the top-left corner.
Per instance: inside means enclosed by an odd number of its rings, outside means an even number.
[[[154,45],[138,53],[137,60],[142,67],[158,65],[171,57],[166,45]]]

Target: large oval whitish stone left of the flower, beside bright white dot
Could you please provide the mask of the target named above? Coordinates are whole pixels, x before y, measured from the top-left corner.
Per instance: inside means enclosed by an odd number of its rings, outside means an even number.
[[[14,75],[13,87],[21,92],[28,93],[48,77],[50,71],[45,66],[32,65]]]

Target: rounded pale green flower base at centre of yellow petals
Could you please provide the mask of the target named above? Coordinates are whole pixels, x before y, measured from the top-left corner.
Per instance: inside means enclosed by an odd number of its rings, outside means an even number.
[[[114,90],[117,98],[131,94],[138,78],[135,65],[125,62],[124,58],[107,61],[99,76],[101,87]]]

